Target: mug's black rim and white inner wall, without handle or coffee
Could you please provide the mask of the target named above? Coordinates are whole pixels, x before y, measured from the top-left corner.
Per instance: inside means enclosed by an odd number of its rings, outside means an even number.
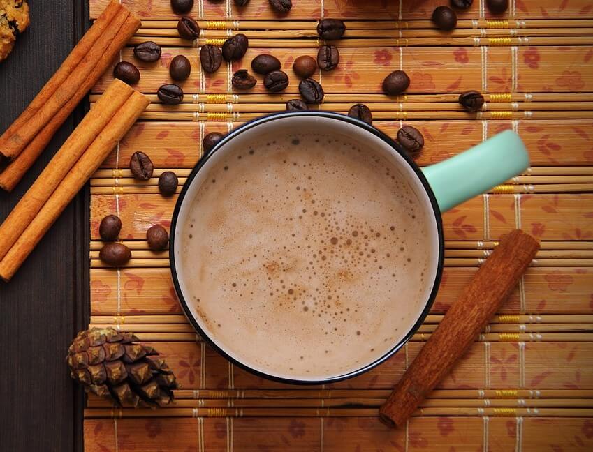
[[[426,213],[426,218],[430,219],[428,233],[426,234],[427,236],[422,237],[421,240],[430,242],[430,249],[432,250],[431,256],[434,258],[430,259],[430,262],[427,262],[425,278],[427,283],[422,297],[425,302],[420,303],[418,312],[414,316],[416,322],[412,322],[409,325],[409,329],[400,334],[400,336],[395,337],[393,342],[386,344],[385,349],[377,349],[376,354],[367,357],[369,359],[365,362],[360,362],[356,364],[356,366],[351,366],[351,368],[347,369],[345,372],[325,375],[314,375],[314,373],[302,375],[293,374],[291,372],[271,372],[270,369],[264,369],[261,366],[258,366],[258,363],[250,362],[245,359],[244,356],[237,354],[233,349],[233,344],[223,343],[217,340],[216,333],[212,331],[212,329],[210,329],[203,321],[202,317],[200,317],[196,310],[196,306],[193,303],[187,303],[187,300],[191,300],[191,293],[189,292],[186,281],[188,278],[191,278],[191,275],[185,273],[184,266],[181,264],[181,255],[184,250],[182,250],[180,234],[183,232],[183,225],[186,225],[188,222],[192,200],[198,195],[200,186],[209,179],[208,174],[210,169],[212,169],[214,165],[217,165],[219,160],[224,159],[228,153],[232,153],[237,147],[246,148],[249,143],[254,142],[254,137],[286,129],[299,131],[306,130],[313,133],[321,132],[325,135],[348,137],[353,143],[374,149],[376,153],[380,153],[395,169],[397,169],[400,176],[403,176],[407,180],[409,187],[413,190],[413,193],[415,193],[420,204],[422,204],[422,209]],[[220,202],[224,203],[224,199],[221,199]],[[413,334],[413,331],[416,331],[420,323],[423,321],[432,304],[432,299],[434,298],[437,289],[435,286],[438,285],[440,278],[442,237],[439,228],[440,213],[436,207],[434,195],[432,195],[432,191],[427,186],[427,182],[420,174],[419,169],[414,165],[411,165],[407,158],[404,158],[404,156],[393,147],[393,142],[391,142],[385,135],[374,128],[360,123],[360,121],[354,121],[347,116],[338,114],[280,114],[277,116],[267,116],[252,121],[251,123],[247,123],[242,126],[242,128],[227,135],[225,140],[221,142],[214,151],[200,160],[191,176],[188,178],[184,190],[180,195],[180,199],[177,201],[171,234],[171,248],[173,250],[170,258],[171,268],[177,295],[180,298],[182,307],[184,308],[189,321],[196,327],[200,336],[203,336],[205,340],[208,340],[211,345],[218,349],[219,352],[224,354],[228,359],[258,375],[277,379],[282,382],[308,384],[332,382],[359,375],[365,370],[369,370],[376,366],[376,364],[387,359],[407,342]]]

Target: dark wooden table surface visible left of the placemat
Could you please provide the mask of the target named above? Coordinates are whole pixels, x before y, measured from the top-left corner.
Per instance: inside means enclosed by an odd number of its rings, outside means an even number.
[[[59,67],[88,26],[81,0],[29,1],[31,26],[0,62],[0,130],[6,130]],[[85,112],[61,127],[13,193],[6,218]],[[1,191],[1,190],[0,190]],[[82,451],[82,391],[64,357],[88,324],[89,195],[83,190],[9,283],[0,282],[0,450]]]

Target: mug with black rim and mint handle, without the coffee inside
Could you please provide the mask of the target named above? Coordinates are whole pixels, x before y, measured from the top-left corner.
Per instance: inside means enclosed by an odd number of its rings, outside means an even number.
[[[269,370],[258,368],[252,363],[245,362],[241,356],[233,352],[232,345],[221,344],[212,331],[207,329],[201,321],[198,312],[188,303],[191,299],[184,284],[182,249],[180,233],[186,223],[189,205],[196,197],[201,184],[207,179],[209,170],[227,151],[232,151],[236,146],[243,146],[254,135],[273,133],[284,128],[298,130],[321,131],[325,135],[335,133],[347,135],[355,142],[365,146],[372,146],[377,152],[386,156],[393,165],[396,165],[401,174],[407,178],[411,189],[416,193],[430,219],[429,234],[423,238],[431,242],[434,259],[428,263],[427,287],[423,309],[418,312],[416,322],[411,325],[407,333],[390,344],[386,352],[373,356],[368,362],[356,366],[353,370],[338,375],[324,377],[307,377],[305,375],[288,375],[286,372],[272,373]],[[284,129],[286,130],[286,129]],[[434,297],[437,294],[441,273],[444,265],[444,239],[441,212],[453,208],[471,197],[480,195],[490,188],[503,183],[516,176],[529,166],[529,156],[520,137],[511,130],[506,130],[485,142],[474,146],[469,151],[464,151],[441,163],[420,169],[408,156],[399,144],[390,139],[380,130],[367,125],[362,121],[353,119],[343,114],[331,112],[283,112],[263,116],[254,121],[249,121],[229,133],[217,146],[201,158],[189,175],[180,193],[173,213],[170,232],[170,268],[173,284],[180,304],[186,317],[193,328],[203,340],[207,341],[214,349],[235,363],[235,365],[260,377],[284,383],[293,384],[328,384],[342,379],[355,377],[382,363],[413,336],[423,323],[428,314]],[[224,202],[224,199],[221,200]],[[247,338],[246,338],[247,340]]]

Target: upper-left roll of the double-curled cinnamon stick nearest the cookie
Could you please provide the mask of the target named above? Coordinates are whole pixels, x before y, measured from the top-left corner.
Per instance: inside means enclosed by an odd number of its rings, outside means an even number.
[[[39,110],[43,105],[47,102],[53,93],[61,86],[62,83],[66,80],[68,75],[70,75],[73,70],[75,70],[76,66],[80,63],[83,57],[89,53],[91,47],[96,43],[98,38],[100,38],[105,29],[107,29],[108,24],[110,24],[113,18],[120,13],[122,10],[122,6],[119,4],[117,0],[113,0],[108,6],[103,10],[103,13],[93,24],[89,31],[85,33],[85,36],[82,36],[78,44],[75,45],[72,52],[68,54],[68,57],[61,63],[59,69],[56,71],[52,78],[43,86],[41,91],[35,96],[31,103],[27,108],[22,112],[22,114],[15,119],[15,121],[10,125],[10,127],[0,136],[0,145],[3,140],[6,140],[7,137],[10,137],[14,133],[17,132],[18,128],[22,126],[22,124],[28,121],[31,116],[33,116],[37,110]]]

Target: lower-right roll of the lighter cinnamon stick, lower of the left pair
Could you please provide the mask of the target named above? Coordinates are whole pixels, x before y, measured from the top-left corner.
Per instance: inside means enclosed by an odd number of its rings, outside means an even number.
[[[8,281],[14,276],[47,229],[66,209],[76,193],[85,185],[149,103],[150,100],[146,96],[134,91],[126,103],[119,108],[0,261],[0,277],[3,280]]]

